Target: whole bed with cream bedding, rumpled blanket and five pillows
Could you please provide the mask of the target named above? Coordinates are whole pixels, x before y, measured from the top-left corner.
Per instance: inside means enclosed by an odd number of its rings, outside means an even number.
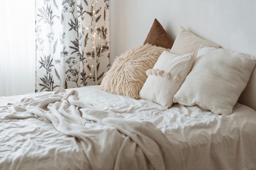
[[[256,111],[237,101],[255,64],[155,19],[101,85],[0,97],[0,169],[254,170]]]

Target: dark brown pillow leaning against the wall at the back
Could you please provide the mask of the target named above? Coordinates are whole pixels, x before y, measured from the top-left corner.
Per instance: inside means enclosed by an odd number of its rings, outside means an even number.
[[[173,40],[164,30],[163,26],[158,22],[157,19],[154,20],[153,25],[148,33],[148,36],[144,44],[152,44],[156,46],[162,46],[166,49],[171,49],[173,46]]]

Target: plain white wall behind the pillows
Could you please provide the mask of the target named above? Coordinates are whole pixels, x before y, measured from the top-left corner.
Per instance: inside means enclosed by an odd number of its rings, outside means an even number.
[[[173,40],[182,25],[222,48],[256,55],[256,0],[110,0],[111,63],[143,44],[155,18]],[[241,99],[256,109],[255,70],[252,76]]]

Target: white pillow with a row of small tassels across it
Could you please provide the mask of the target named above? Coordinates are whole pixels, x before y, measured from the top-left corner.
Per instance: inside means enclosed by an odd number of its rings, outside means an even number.
[[[148,78],[139,92],[139,97],[165,108],[171,107],[173,95],[179,90],[193,64],[193,53],[175,55],[163,51],[155,66],[146,71]]]

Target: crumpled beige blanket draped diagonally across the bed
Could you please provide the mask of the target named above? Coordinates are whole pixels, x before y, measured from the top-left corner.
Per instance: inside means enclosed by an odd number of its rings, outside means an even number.
[[[76,137],[87,170],[184,170],[180,148],[152,123],[129,121],[79,101],[63,88],[11,105],[4,119],[36,117]]]

